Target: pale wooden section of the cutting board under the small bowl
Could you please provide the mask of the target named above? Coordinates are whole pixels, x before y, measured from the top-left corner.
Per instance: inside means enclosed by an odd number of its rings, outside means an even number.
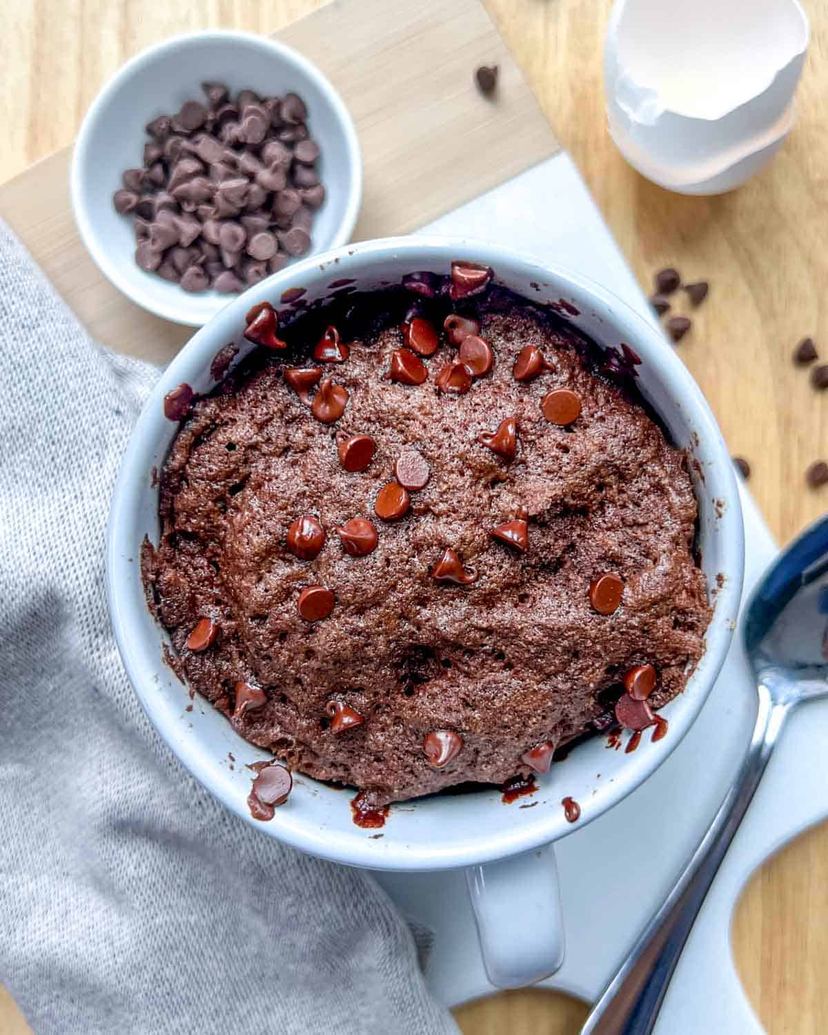
[[[548,158],[559,144],[479,0],[331,3],[276,37],[315,61],[356,122],[364,196],[355,240],[407,233]],[[500,67],[494,99],[474,85]],[[70,149],[0,187],[0,215],[101,345],[166,362],[193,329],[130,302],[75,226]]]

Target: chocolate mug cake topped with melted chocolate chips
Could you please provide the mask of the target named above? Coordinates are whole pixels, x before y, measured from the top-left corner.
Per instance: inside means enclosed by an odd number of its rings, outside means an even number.
[[[190,687],[372,808],[662,735],[711,609],[635,353],[464,262],[292,300],[212,394],[168,396],[142,565]]]

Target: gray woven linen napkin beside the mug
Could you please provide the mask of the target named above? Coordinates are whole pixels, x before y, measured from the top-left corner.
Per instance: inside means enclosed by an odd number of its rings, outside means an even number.
[[[36,1035],[456,1033],[372,878],[225,811],[127,683],[105,529],[155,375],[0,224],[0,981]]]

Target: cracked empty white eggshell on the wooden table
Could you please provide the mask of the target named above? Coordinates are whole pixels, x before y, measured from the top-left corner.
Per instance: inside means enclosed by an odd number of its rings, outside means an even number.
[[[604,48],[610,131],[644,176],[718,194],[767,162],[793,125],[808,43],[798,0],[616,0]]]

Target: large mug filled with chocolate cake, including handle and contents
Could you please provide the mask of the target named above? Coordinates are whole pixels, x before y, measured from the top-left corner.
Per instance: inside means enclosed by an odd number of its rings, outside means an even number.
[[[658,331],[439,238],[231,301],[149,397],[108,545],[126,670],[182,763],[304,851],[469,867],[498,984],[560,963],[549,846],[681,741],[741,582],[730,455]]]

